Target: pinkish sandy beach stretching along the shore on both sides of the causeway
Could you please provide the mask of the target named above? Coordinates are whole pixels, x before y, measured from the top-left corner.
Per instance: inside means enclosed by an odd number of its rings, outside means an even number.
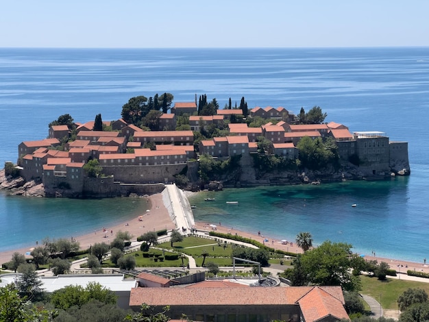
[[[189,195],[186,193],[186,195]],[[77,240],[80,244],[81,249],[88,248],[90,245],[95,243],[110,243],[114,236],[119,230],[123,232],[130,232],[132,236],[134,236],[133,240],[135,240],[141,234],[149,231],[156,230],[172,230],[175,228],[175,223],[171,220],[169,215],[169,211],[162,200],[162,194],[158,193],[156,195],[151,195],[149,197],[149,201],[151,203],[151,209],[149,212],[144,212],[129,221],[125,221],[123,223],[119,223],[118,225],[114,225],[112,227],[98,227],[93,233],[86,234],[82,236],[73,236],[75,240]],[[141,221],[139,217],[141,216]],[[246,238],[252,238],[254,240],[259,241],[260,243],[265,243],[265,245],[269,245],[274,249],[282,249],[283,251],[290,251],[292,253],[302,253],[302,249],[297,247],[295,240],[288,240],[286,244],[282,243],[280,240],[275,240],[270,236],[265,236],[264,232],[243,232],[240,230],[234,229],[234,227],[225,227],[221,225],[221,223],[203,223],[196,222],[195,227],[198,230],[210,231],[213,229],[212,226],[216,226],[216,231],[221,232],[223,234],[237,234]],[[106,232],[103,232],[103,229]],[[36,247],[33,245],[32,247]],[[4,251],[0,253],[0,263],[8,262],[12,258],[12,253],[18,251],[19,253],[25,254],[29,251],[29,248],[25,249],[15,249],[12,251]],[[365,256],[366,260],[377,260],[378,262],[387,262],[391,269],[396,269],[397,271],[401,271],[402,273],[406,273],[408,269],[415,271],[424,271],[429,273],[429,264],[424,262],[407,262],[404,260],[395,260],[392,258],[381,258],[377,256]],[[429,263],[429,262],[428,262]]]

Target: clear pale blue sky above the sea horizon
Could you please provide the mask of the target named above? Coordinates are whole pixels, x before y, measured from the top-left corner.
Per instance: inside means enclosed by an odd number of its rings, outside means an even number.
[[[429,46],[428,0],[4,0],[0,47]]]

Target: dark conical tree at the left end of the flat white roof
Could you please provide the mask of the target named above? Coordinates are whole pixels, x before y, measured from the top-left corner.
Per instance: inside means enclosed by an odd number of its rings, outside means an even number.
[[[21,276],[16,281],[19,296],[35,302],[42,299],[44,293],[42,289],[42,280],[36,273],[36,268],[33,264],[21,264],[18,267]]]

